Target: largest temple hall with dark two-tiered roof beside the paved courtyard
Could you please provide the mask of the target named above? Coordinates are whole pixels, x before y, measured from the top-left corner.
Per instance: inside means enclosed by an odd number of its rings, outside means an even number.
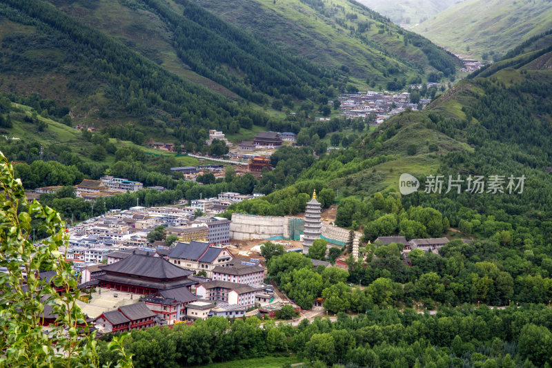
[[[132,254],[119,262],[100,267],[106,272],[97,277],[99,287],[152,294],[175,287],[191,288],[197,280],[188,279],[193,271],[181,269],[161,257]]]

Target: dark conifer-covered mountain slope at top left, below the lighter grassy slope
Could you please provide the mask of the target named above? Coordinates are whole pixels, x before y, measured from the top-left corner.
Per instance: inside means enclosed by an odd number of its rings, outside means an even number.
[[[324,87],[328,78],[336,76],[331,70],[277,50],[266,41],[224,23],[193,3],[181,2],[183,12],[165,0],[126,1],[124,5],[103,0],[95,1],[93,6],[81,1],[53,2],[81,21],[99,24],[110,35],[124,38],[156,61],[162,58],[156,56],[155,48],[147,40],[161,39],[164,42],[160,42],[159,48],[168,52],[169,57],[176,55],[179,63],[195,73],[258,104],[268,102],[266,95],[312,97],[309,88]],[[126,14],[123,22],[119,12]],[[140,38],[146,42],[136,41]],[[167,41],[172,50],[168,49]]]

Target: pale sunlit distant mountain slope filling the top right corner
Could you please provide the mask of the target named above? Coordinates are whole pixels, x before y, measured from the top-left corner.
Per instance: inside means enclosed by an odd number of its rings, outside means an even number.
[[[457,55],[504,55],[529,37],[552,28],[547,0],[466,0],[413,28]],[[492,57],[492,55],[491,55]]]

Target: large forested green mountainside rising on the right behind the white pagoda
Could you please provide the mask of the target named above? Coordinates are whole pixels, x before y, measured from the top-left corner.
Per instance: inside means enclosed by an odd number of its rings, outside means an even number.
[[[535,44],[545,46],[544,38]],[[495,234],[496,227],[481,227],[487,216],[501,222],[502,229],[515,229],[521,237],[516,242],[523,243],[522,233],[529,232],[538,241],[551,242],[551,60],[546,47],[488,77],[464,79],[422,112],[395,115],[372,133],[357,136],[348,148],[322,157],[299,180],[322,180],[338,191],[340,226],[366,226],[380,217],[382,213],[365,208],[368,198],[384,191],[402,197],[404,207],[438,209],[452,226],[464,226],[468,233]],[[399,195],[402,173],[417,177],[420,190]],[[424,193],[428,175],[443,175],[441,193]],[[461,193],[445,193],[449,175],[461,175]],[[503,175],[504,193],[489,192],[488,186],[484,193],[466,192],[468,175],[482,175],[487,183],[491,175]],[[522,193],[508,193],[511,175],[524,175]],[[235,210],[254,208],[243,204]]]

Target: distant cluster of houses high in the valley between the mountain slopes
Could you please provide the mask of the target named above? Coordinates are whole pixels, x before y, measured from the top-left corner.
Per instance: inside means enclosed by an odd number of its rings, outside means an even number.
[[[404,111],[407,107],[417,109],[417,104],[411,104],[410,93],[403,92],[397,95],[368,90],[366,93],[346,93],[339,97],[339,108],[347,117],[368,117],[375,113],[376,123],[382,124],[385,119]],[[430,102],[420,99],[422,106]]]

